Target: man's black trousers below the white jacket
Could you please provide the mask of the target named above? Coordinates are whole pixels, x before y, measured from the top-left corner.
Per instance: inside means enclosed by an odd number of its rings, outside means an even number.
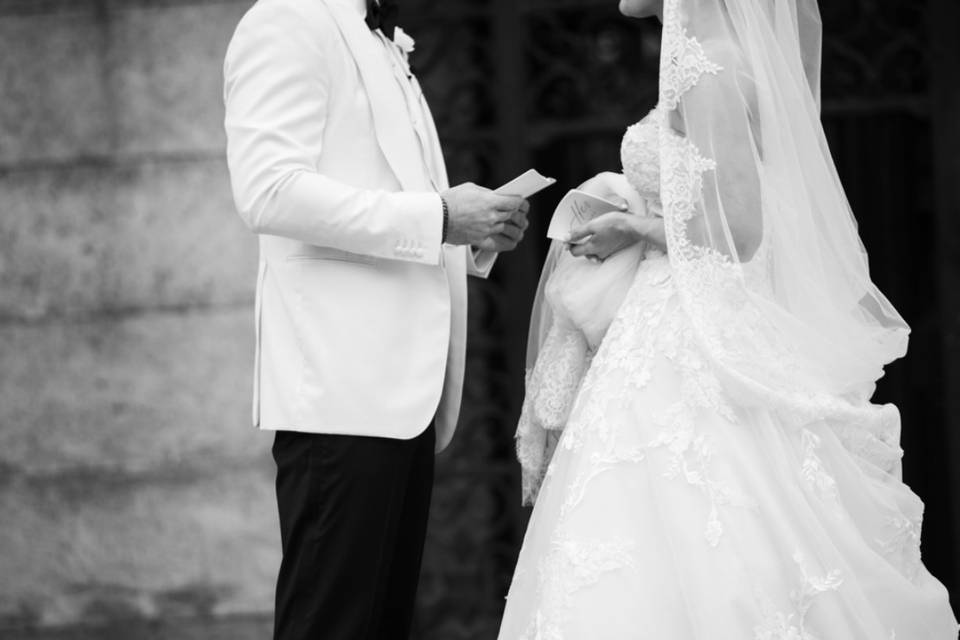
[[[277,432],[274,640],[407,640],[435,439]]]

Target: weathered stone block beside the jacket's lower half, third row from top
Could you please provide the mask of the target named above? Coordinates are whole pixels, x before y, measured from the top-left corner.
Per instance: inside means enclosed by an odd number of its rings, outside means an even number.
[[[186,479],[260,464],[269,438],[251,426],[252,317],[0,325],[0,480]]]

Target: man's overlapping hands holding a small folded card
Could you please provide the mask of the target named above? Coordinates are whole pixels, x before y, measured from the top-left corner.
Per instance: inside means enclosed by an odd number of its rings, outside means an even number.
[[[469,182],[440,195],[450,211],[450,244],[501,252],[516,248],[523,239],[530,210],[530,203],[523,198],[502,196]]]

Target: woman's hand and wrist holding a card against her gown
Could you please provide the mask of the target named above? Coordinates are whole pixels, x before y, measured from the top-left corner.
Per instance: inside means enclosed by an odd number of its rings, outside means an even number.
[[[611,211],[597,216],[570,233],[570,253],[595,260],[606,260],[613,254],[646,240],[666,247],[663,219],[640,217],[632,213]]]

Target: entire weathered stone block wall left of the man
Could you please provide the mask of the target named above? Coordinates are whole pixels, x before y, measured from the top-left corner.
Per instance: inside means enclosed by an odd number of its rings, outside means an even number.
[[[0,636],[272,608],[223,161],[248,4],[0,0]]]

